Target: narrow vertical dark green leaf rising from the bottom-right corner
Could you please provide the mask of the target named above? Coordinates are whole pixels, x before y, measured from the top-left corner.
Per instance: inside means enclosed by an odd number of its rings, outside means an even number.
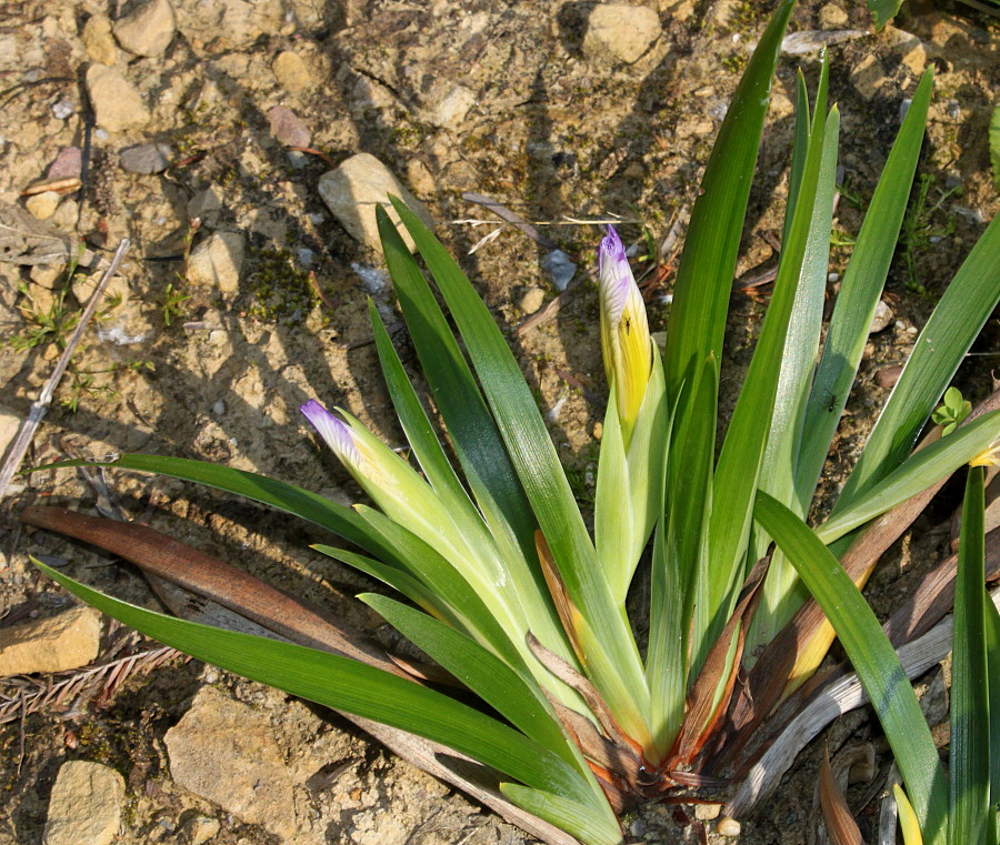
[[[952,843],[979,843],[987,833],[990,801],[990,693],[986,647],[986,532],[983,475],[969,469],[958,574],[951,662]]]

